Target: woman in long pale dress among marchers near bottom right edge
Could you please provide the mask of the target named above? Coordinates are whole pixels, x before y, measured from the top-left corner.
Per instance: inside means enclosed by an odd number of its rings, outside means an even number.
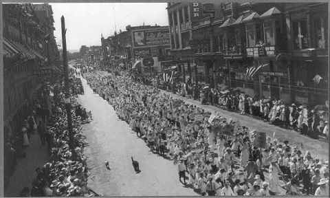
[[[279,179],[278,175],[279,174],[283,174],[280,167],[278,167],[278,164],[276,163],[275,160],[272,160],[272,164],[270,164],[270,170],[269,170],[269,183],[270,183],[270,190],[272,192],[274,192],[276,195],[285,195],[285,189],[281,187],[280,183],[283,183],[283,181],[281,182],[281,180]],[[267,180],[266,179],[266,180]]]

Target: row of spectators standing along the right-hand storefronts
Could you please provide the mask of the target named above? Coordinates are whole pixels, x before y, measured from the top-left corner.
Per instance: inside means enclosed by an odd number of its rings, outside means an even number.
[[[166,85],[166,84],[165,84]],[[317,105],[307,107],[306,104],[285,104],[282,100],[249,96],[239,89],[210,88],[205,83],[191,85],[187,83],[171,83],[159,85],[161,89],[173,91],[175,94],[200,100],[202,104],[211,104],[229,111],[237,111],[243,115],[252,115],[265,122],[293,129],[303,135],[328,140],[329,107]]]

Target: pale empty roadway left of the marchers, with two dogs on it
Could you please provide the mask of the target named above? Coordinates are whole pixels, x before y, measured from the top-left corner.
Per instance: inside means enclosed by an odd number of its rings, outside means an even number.
[[[83,126],[89,146],[85,155],[91,168],[89,188],[104,196],[197,195],[178,180],[177,166],[149,151],[126,122],[118,119],[105,100],[83,80],[85,95],[79,102],[93,113],[93,121]],[[141,173],[133,170],[131,156],[140,163]],[[111,170],[104,166],[109,161]]]

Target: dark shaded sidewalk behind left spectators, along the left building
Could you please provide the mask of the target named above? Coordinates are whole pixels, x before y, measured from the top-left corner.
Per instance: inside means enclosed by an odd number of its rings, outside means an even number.
[[[32,181],[36,177],[36,168],[43,166],[49,159],[47,144],[41,146],[39,134],[34,132],[30,137],[30,146],[24,149],[25,158],[17,159],[14,174],[10,177],[5,197],[18,197],[24,187],[32,188]]]

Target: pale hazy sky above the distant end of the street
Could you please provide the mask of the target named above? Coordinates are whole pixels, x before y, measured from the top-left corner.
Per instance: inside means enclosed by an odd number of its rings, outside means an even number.
[[[56,42],[62,46],[61,16],[67,28],[67,50],[101,45],[101,34],[111,36],[126,25],[168,25],[166,3],[50,3]]]

